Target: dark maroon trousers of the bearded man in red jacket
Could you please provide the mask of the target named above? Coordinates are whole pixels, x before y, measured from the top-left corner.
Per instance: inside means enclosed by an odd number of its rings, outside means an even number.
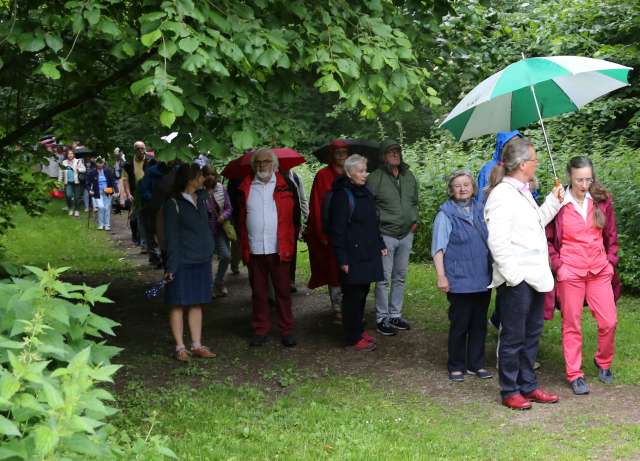
[[[271,330],[271,310],[268,301],[269,276],[271,276],[276,295],[280,335],[289,336],[293,332],[289,265],[288,262],[280,261],[280,256],[276,253],[249,257],[249,282],[253,303],[251,326],[257,336],[266,336]]]

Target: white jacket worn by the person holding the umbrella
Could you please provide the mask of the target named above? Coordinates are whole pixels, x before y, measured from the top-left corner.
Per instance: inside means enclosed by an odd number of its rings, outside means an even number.
[[[538,292],[553,289],[545,226],[562,204],[549,194],[538,206],[531,193],[522,192],[511,178],[498,184],[487,199],[484,219],[489,230],[487,244],[493,257],[493,281],[516,286],[525,281]]]

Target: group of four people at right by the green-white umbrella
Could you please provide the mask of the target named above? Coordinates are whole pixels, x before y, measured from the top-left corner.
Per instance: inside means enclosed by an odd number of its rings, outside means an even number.
[[[568,186],[557,182],[539,205],[532,188],[538,157],[517,131],[498,135],[491,162],[478,181],[487,184],[484,189],[468,170],[450,176],[449,200],[434,221],[437,286],[450,304],[449,379],[463,381],[465,373],[491,377],[484,368],[484,343],[495,288],[492,323],[499,328],[503,405],[526,410],[532,402],[558,402],[540,388],[534,371],[544,319],[556,308],[573,392],[589,393],[582,367],[585,304],[598,325],[598,377],[610,384],[620,296],[611,194],[597,181],[591,160],[577,156],[567,165]]]

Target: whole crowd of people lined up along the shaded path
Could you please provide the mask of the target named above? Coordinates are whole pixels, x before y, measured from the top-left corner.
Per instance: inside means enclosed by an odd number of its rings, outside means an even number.
[[[279,168],[271,149],[254,151],[251,173],[225,188],[206,159],[165,164],[156,162],[144,143],[134,148],[131,162],[116,152],[116,172],[96,168],[89,194],[108,203],[104,199],[112,189],[120,192],[123,205],[132,204],[141,244],[150,262],[165,270],[178,360],[215,356],[202,343],[202,306],[227,294],[226,271],[229,265],[238,270],[234,253],[249,273],[249,345],[269,341],[274,307],[282,345],[296,346],[291,293],[298,240],[309,249],[308,286],[327,286],[327,304],[342,326],[345,346],[363,352],[376,348],[377,339],[364,324],[371,283],[377,333],[393,336],[411,328],[402,313],[418,230],[418,183],[397,142],[381,144],[380,166],[369,173],[366,157],[350,153],[343,140],[333,141],[308,202],[300,178]],[[562,314],[566,379],[573,392],[589,393],[582,367],[585,303],[598,324],[594,362],[599,379],[613,379],[620,282],[611,194],[596,180],[589,158],[579,156],[567,165],[568,186],[558,182],[539,204],[537,165],[535,148],[521,133],[499,133],[494,156],[477,181],[468,170],[451,174],[449,199],[439,208],[432,232],[436,284],[449,301],[448,379],[492,378],[485,366],[485,340],[495,288],[491,321],[499,329],[502,403],[513,409],[559,400],[540,388],[534,371],[544,319],[556,309]],[[61,180],[70,197],[77,197],[74,187],[82,171],[69,152]],[[75,213],[77,204],[68,203]],[[214,253],[219,259],[215,276]],[[189,349],[183,339],[185,312]]]

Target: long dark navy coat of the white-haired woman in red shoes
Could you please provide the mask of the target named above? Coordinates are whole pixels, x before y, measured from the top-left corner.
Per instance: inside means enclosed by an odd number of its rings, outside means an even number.
[[[353,194],[353,208],[346,188]],[[333,183],[330,216],[331,241],[342,283],[368,284],[383,280],[380,252],[386,247],[369,189],[354,185],[346,176],[338,177]],[[345,264],[349,266],[348,274],[339,269]]]

